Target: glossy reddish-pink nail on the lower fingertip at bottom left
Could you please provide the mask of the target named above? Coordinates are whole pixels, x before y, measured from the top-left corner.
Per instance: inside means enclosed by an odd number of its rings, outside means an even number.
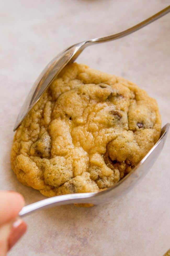
[[[27,224],[21,219],[16,220],[12,224],[12,229],[8,237],[8,248],[9,250],[13,245],[21,238],[27,229]]]

